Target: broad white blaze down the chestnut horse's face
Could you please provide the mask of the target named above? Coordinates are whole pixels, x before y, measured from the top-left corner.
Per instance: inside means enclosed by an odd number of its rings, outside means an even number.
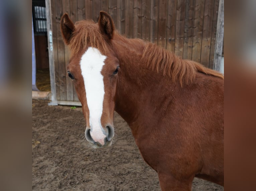
[[[101,74],[104,61],[107,57],[102,55],[96,48],[89,47],[83,54],[80,67],[85,83],[86,99],[90,112],[91,136],[96,142],[104,145],[101,115],[104,99],[104,83]]]

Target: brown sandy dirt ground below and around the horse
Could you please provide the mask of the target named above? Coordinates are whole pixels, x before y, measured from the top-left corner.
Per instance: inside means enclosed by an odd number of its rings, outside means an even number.
[[[115,142],[95,150],[84,140],[82,108],[32,100],[32,190],[160,190],[157,173],[141,157],[131,130],[114,115]],[[224,188],[194,179],[193,191]]]

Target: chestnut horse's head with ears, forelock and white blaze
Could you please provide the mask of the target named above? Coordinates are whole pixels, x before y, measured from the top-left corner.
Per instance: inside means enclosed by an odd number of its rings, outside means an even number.
[[[71,50],[68,76],[73,80],[86,119],[85,137],[94,148],[110,146],[119,61],[111,49],[112,18],[101,11],[98,23],[60,21],[64,42]]]

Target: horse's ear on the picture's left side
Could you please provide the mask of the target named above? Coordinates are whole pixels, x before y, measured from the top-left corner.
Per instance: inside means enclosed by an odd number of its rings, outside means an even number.
[[[70,43],[71,35],[75,31],[75,25],[65,13],[60,19],[60,30],[66,44]]]

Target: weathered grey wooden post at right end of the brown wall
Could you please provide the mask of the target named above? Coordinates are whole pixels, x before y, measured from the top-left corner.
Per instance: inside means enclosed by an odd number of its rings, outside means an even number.
[[[220,71],[224,38],[224,0],[220,0],[213,69]]]

